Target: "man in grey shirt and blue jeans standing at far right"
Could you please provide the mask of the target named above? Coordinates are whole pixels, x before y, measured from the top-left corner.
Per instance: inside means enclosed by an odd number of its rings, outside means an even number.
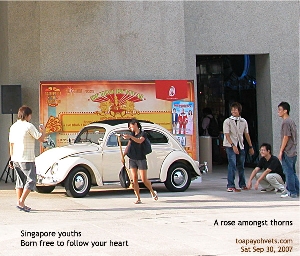
[[[290,118],[290,105],[281,102],[278,105],[278,115],[283,119],[281,125],[281,146],[278,159],[282,162],[283,172],[286,176],[286,189],[281,197],[299,197],[299,179],[296,173],[297,161],[297,128],[295,122]]]

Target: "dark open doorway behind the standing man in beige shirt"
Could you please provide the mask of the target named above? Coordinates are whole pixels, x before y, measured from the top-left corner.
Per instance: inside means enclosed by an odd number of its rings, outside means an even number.
[[[198,55],[197,100],[199,136],[203,131],[201,120],[203,109],[209,108],[218,122],[219,136],[213,139],[213,164],[227,162],[223,142],[223,121],[230,116],[230,105],[242,104],[242,117],[249,126],[249,134],[256,152],[247,154],[245,166],[253,167],[258,162],[258,126],[256,98],[255,55]],[[248,145],[245,142],[245,150]]]

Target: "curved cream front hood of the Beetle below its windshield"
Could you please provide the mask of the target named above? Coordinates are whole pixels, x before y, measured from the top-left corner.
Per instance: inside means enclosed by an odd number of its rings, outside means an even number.
[[[64,147],[52,148],[46,150],[38,157],[36,157],[35,164],[37,167],[37,171],[39,171],[39,169],[45,170],[62,158],[94,152],[98,150],[99,146],[93,143],[72,144]]]

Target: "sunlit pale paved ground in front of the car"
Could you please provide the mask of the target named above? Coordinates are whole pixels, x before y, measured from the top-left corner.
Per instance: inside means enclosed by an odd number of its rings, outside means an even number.
[[[182,193],[156,184],[159,201],[144,189],[141,205],[119,187],[85,198],[58,187],[31,193],[30,213],[16,209],[13,184],[1,181],[0,255],[299,255],[299,200],[226,192],[226,175],[214,167]]]

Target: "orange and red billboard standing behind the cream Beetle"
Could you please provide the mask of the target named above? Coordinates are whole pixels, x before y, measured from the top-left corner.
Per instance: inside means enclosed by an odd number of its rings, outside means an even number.
[[[175,128],[174,109],[178,114]],[[44,148],[68,144],[91,122],[135,117],[173,131],[196,159],[193,113],[194,84],[188,80],[40,83],[40,122],[49,134]]]

